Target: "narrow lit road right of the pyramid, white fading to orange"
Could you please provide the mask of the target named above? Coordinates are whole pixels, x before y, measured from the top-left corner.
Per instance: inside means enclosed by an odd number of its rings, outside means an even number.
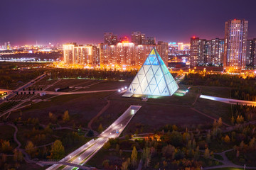
[[[231,99],[231,98],[220,98],[220,97],[215,97],[215,96],[206,96],[203,94],[201,94],[200,98],[205,98],[205,99],[212,100],[212,101],[220,101],[220,102],[229,103],[229,104],[240,103],[242,105],[256,106],[256,101],[242,101],[242,100]]]

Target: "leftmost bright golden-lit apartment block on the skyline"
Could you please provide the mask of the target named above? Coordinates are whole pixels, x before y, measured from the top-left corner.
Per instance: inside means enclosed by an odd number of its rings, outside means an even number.
[[[67,43],[63,45],[64,62],[67,64],[85,64],[95,66],[99,64],[100,51],[94,45],[77,45]]]

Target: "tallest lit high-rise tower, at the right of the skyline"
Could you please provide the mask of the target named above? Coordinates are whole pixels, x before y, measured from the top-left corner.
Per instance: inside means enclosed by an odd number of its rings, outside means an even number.
[[[225,52],[223,66],[226,71],[241,71],[246,64],[248,21],[234,19],[225,22]]]

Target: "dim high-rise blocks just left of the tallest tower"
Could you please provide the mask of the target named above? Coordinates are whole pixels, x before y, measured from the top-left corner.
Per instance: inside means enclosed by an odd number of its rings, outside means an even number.
[[[224,57],[224,40],[191,38],[191,67],[200,65],[221,66]]]

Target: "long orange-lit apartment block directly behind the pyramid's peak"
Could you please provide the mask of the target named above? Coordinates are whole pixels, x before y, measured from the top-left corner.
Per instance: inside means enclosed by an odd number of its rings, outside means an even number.
[[[132,42],[119,42],[117,45],[101,43],[100,67],[107,69],[139,69],[153,47],[163,56],[168,64],[168,43],[159,42],[157,45],[135,45]]]

